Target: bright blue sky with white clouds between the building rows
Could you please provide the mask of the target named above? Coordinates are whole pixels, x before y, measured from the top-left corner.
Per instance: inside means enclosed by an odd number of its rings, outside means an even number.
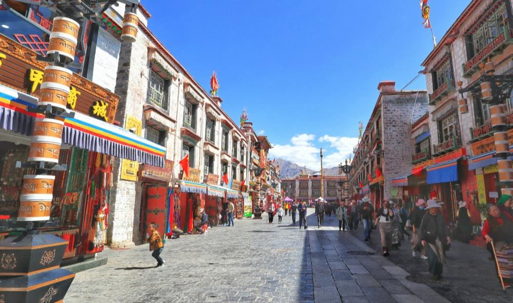
[[[430,0],[437,41],[469,0]],[[247,108],[281,157],[319,169],[343,162],[368,121],[378,83],[401,89],[432,49],[418,0],[148,1],[149,28],[223,108]],[[407,89],[425,89],[424,76]]]

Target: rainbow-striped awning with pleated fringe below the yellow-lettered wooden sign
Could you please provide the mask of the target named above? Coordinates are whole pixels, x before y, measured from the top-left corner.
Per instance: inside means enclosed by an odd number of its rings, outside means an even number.
[[[30,136],[35,118],[40,113],[27,111],[35,107],[37,98],[0,85],[0,127]],[[75,113],[65,118],[63,143],[98,153],[133,160],[153,166],[164,166],[166,148],[139,137],[119,126]]]

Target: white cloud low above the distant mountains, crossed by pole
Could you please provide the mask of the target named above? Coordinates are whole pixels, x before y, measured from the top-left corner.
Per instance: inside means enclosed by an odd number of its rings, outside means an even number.
[[[290,139],[291,144],[273,144],[273,148],[269,150],[269,157],[282,158],[299,166],[306,165],[314,171],[319,171],[321,168],[320,147],[314,144],[314,140],[315,135],[313,134],[295,135]],[[352,149],[358,143],[358,138],[324,135],[319,138],[318,142],[323,147],[323,166],[331,168],[338,166],[352,154]]]

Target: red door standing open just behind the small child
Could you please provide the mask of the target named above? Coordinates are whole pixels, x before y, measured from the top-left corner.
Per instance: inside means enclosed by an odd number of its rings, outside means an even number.
[[[151,222],[154,222],[157,224],[157,231],[164,237],[167,223],[167,186],[146,186],[145,201],[144,231],[148,230]]]

